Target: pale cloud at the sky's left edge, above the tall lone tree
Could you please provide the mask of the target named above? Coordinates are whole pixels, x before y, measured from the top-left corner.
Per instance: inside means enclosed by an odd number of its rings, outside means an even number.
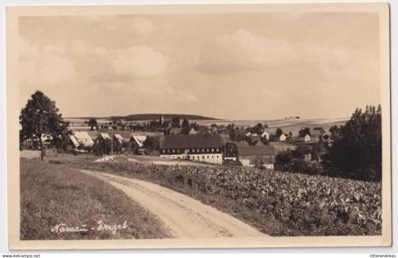
[[[28,40],[19,42],[20,82],[26,85],[57,86],[74,77],[74,63],[55,45],[37,47]]]

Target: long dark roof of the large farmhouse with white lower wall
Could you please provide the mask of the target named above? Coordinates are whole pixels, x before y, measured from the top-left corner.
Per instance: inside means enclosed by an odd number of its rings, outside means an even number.
[[[172,134],[160,140],[160,149],[220,148],[221,137],[217,134]]]

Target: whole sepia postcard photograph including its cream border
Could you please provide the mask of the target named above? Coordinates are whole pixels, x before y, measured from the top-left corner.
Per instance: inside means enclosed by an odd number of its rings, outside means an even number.
[[[10,246],[389,245],[388,40],[387,4],[8,8]]]

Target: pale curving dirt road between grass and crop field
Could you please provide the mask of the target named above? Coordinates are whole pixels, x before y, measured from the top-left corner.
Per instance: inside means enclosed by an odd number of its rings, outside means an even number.
[[[124,191],[162,220],[176,238],[267,236],[226,213],[160,185],[108,173],[82,171]]]

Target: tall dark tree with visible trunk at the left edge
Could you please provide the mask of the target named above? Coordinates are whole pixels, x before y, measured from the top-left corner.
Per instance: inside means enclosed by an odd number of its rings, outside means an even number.
[[[22,108],[20,115],[20,141],[31,139],[39,142],[41,148],[41,160],[44,158],[44,140],[61,148],[64,146],[68,135],[68,122],[62,118],[59,109],[55,106],[55,101],[44,95],[41,91],[36,91],[27,100],[25,108]]]

